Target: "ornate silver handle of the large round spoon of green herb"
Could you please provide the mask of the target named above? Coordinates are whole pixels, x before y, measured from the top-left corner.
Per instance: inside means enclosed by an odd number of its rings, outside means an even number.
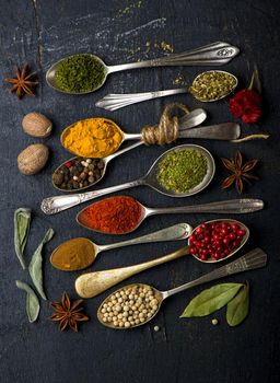
[[[45,214],[51,216],[56,214],[62,210],[67,210],[72,208],[73,206],[86,202],[89,200],[98,198],[101,196],[105,196],[107,194],[128,189],[130,187],[136,187],[140,185],[144,185],[145,181],[144,178],[139,178],[135,181],[130,181],[125,184],[115,185],[110,187],[106,187],[104,189],[94,190],[94,192],[88,192],[88,193],[79,193],[79,194],[68,194],[63,196],[54,196],[54,197],[47,197],[44,198],[40,204],[40,209]]]

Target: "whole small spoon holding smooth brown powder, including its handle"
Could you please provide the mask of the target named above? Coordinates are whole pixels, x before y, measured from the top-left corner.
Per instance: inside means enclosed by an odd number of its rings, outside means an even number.
[[[113,243],[109,245],[97,245],[96,243],[90,241],[89,239],[84,237],[79,237],[79,242],[81,246],[84,246],[86,244],[91,245],[91,254],[88,254],[88,264],[84,265],[84,259],[83,259],[83,267],[73,267],[73,262],[77,264],[79,263],[79,259],[77,258],[78,255],[74,252],[69,252],[68,253],[68,262],[65,260],[65,264],[67,264],[67,267],[61,266],[60,262],[60,251],[63,251],[63,247],[67,246],[69,248],[69,244],[77,239],[72,239],[69,241],[63,242],[61,245],[59,245],[51,254],[50,256],[50,263],[54,267],[56,267],[59,270],[63,271],[74,271],[74,270],[81,270],[83,268],[89,267],[97,257],[97,254],[101,252],[105,252],[108,249],[113,248],[118,248],[118,247],[125,247],[125,246],[131,246],[136,244],[141,244],[141,243],[149,243],[149,242],[165,242],[165,241],[182,241],[187,239],[192,232],[192,228],[187,224],[187,223],[177,223],[174,224],[173,227],[159,230],[156,232],[138,236],[132,240],[128,241],[122,241],[122,242],[117,242]],[[78,245],[77,245],[78,246]]]

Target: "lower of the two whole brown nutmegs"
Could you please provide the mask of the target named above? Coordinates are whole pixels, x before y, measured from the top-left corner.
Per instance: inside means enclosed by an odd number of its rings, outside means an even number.
[[[19,171],[25,175],[38,173],[46,165],[48,154],[48,147],[43,143],[28,146],[18,155]]]

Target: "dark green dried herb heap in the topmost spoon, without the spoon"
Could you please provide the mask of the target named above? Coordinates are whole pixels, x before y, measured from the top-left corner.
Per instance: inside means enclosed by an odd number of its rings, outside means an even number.
[[[56,84],[63,92],[85,93],[100,88],[105,67],[92,55],[74,55],[63,59],[56,71]]]

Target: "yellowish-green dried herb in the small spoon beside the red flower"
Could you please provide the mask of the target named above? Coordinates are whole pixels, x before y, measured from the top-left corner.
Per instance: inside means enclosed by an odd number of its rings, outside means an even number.
[[[236,85],[236,79],[231,73],[210,70],[199,74],[188,91],[197,100],[207,102],[225,97]]]

